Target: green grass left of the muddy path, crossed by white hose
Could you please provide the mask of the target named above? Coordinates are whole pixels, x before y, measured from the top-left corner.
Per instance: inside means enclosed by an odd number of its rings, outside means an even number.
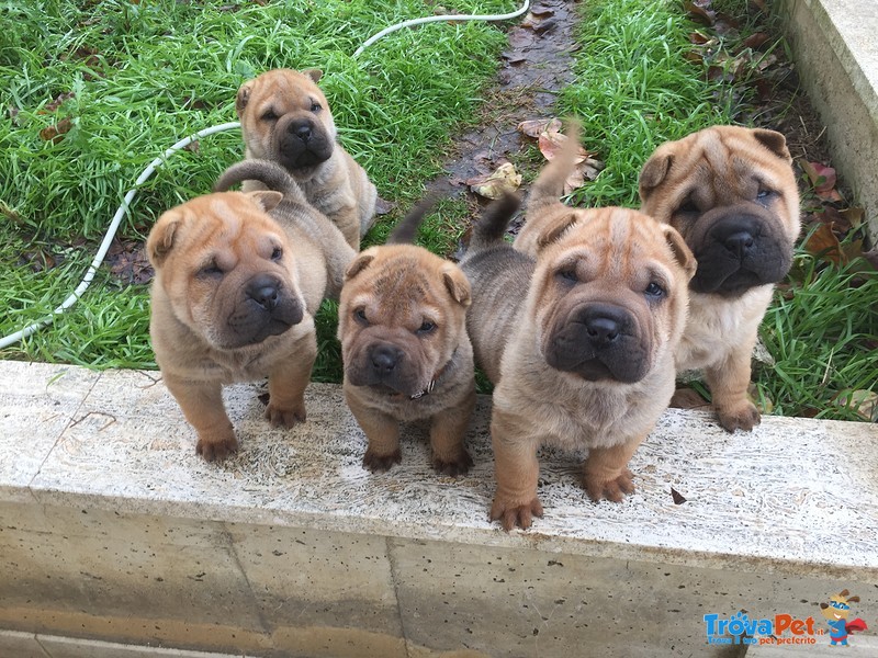
[[[444,4],[477,13],[514,7]],[[448,135],[472,121],[505,44],[495,25],[443,23],[394,33],[351,57],[379,30],[432,10],[419,0],[0,2],[0,333],[55,308],[140,171],[181,137],[235,121],[237,88],[266,69],[325,71],[320,86],[340,138],[382,196],[398,204],[395,219],[440,172]],[[63,139],[41,137],[63,120],[71,124]],[[237,131],[172,156],[140,189],[122,235],[144,238],[161,212],[209,192],[241,156]],[[34,273],[21,262],[34,245],[63,256],[64,265]],[[0,356],[155,367],[147,299],[146,286],[101,274],[54,327]],[[318,322],[329,352],[331,320],[330,308]],[[315,378],[337,377],[331,361],[322,359]]]

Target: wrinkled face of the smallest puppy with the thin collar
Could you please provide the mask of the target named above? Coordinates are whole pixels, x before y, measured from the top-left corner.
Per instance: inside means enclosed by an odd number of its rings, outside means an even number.
[[[412,245],[363,251],[348,268],[338,310],[348,383],[421,393],[461,342],[469,305],[470,284],[454,263]]]

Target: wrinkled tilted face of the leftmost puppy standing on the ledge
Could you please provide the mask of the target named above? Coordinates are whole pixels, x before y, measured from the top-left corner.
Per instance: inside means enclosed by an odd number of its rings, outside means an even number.
[[[302,321],[292,251],[266,213],[281,197],[207,194],[166,212],[149,234],[154,285],[175,317],[216,349],[260,343]]]

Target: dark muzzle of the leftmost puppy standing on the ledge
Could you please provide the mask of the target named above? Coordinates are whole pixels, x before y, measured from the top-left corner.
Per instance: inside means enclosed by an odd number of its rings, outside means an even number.
[[[302,304],[286,292],[282,281],[270,274],[257,274],[245,284],[228,316],[224,347],[260,343],[299,325],[304,317]]]

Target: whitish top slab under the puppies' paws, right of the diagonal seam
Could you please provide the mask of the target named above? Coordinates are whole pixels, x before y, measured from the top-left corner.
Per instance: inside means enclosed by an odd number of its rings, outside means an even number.
[[[545,518],[506,534],[487,521],[489,399],[469,438],[469,476],[432,473],[417,427],[403,464],[373,476],[360,465],[365,439],[339,386],[309,386],[309,420],[290,431],[266,423],[254,386],[230,387],[241,452],[214,465],[194,454],[194,432],[164,386],[132,389],[133,376],[108,372],[94,385],[31,483],[41,502],[705,567],[758,559],[797,575],[856,568],[878,580],[874,424],[768,417],[753,434],[728,434],[709,415],[668,410],[634,456],[639,490],[623,504],[588,502],[577,460],[544,451]],[[674,503],[672,487],[686,503]]]

